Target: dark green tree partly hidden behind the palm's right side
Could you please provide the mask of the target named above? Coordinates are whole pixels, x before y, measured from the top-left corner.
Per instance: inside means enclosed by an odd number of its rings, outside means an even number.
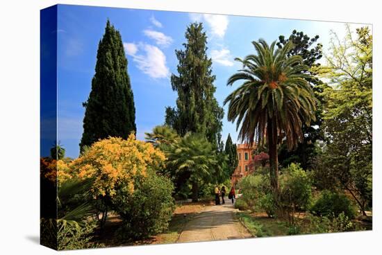
[[[300,55],[303,63],[308,66],[309,69],[304,70],[304,73],[311,74],[306,78],[310,87],[315,93],[317,99],[317,109],[315,111],[316,120],[312,121],[310,125],[302,124],[302,132],[304,139],[298,143],[294,150],[288,150],[286,143],[281,145],[279,150],[279,163],[281,166],[287,167],[292,162],[297,162],[302,168],[307,169],[312,165],[312,160],[316,155],[315,142],[317,140],[324,140],[324,134],[322,132],[322,84],[323,82],[315,76],[315,72],[312,71],[312,67],[318,67],[317,60],[322,58],[322,44],[318,43],[319,35],[315,37],[309,37],[304,32],[293,30],[291,35],[285,39],[283,35],[279,36],[279,42],[277,46],[281,49],[288,42],[293,43],[292,49],[288,52],[288,56]]]

